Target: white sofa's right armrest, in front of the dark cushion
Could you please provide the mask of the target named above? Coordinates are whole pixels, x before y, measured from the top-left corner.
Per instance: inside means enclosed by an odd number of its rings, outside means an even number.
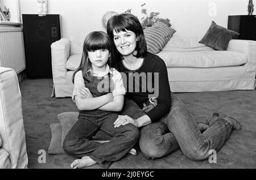
[[[245,53],[247,55],[247,72],[256,71],[256,41],[230,40],[227,50]]]

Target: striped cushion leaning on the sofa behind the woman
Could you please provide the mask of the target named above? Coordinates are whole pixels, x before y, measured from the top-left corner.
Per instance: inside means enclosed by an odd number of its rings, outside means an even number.
[[[144,29],[148,52],[159,53],[175,32],[175,29],[161,22],[154,23],[152,27]]]

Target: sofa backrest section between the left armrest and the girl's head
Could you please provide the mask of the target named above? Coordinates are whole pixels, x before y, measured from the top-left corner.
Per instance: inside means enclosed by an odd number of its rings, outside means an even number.
[[[82,54],[82,46],[84,46],[85,37],[71,36],[70,42],[70,54]]]

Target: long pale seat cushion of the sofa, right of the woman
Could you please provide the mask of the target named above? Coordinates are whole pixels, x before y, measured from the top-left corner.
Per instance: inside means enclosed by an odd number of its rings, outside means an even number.
[[[239,66],[247,62],[246,54],[232,51],[192,51],[158,53],[167,67],[224,67]]]

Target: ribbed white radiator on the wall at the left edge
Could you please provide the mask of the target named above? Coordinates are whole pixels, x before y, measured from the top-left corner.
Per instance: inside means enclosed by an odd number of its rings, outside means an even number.
[[[22,28],[0,28],[0,66],[17,74],[26,68]]]

